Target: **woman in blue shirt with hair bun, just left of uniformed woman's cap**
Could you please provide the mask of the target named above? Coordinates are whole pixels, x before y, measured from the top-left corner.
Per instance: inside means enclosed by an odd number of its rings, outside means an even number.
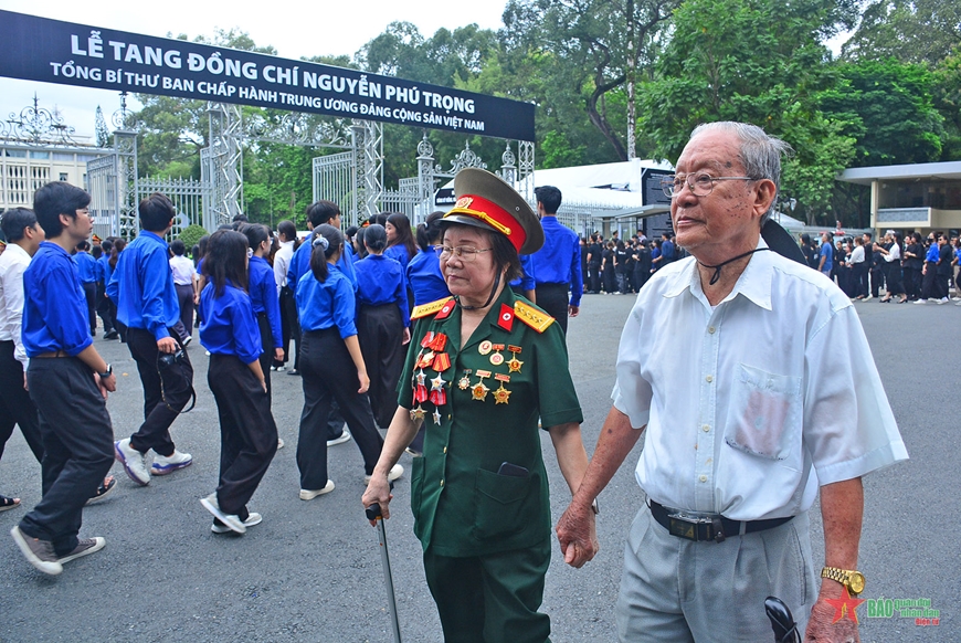
[[[384,254],[387,232],[373,224],[363,233],[367,257],[357,262],[357,337],[377,425],[390,426],[397,412],[397,382],[411,340],[404,270]]]

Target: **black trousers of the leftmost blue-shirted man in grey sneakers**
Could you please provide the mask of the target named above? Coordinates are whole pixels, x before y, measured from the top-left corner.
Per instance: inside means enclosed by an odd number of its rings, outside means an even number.
[[[40,409],[43,498],[20,529],[52,541],[62,557],[76,547],[84,504],[114,463],[114,430],[94,376],[80,359],[31,359],[27,380]]]

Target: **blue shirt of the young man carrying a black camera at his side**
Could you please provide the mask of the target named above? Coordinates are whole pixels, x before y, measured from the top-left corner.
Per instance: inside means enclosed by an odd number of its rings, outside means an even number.
[[[117,319],[130,328],[149,330],[158,341],[170,337],[167,328],[180,319],[180,304],[167,242],[142,231],[117,262],[110,285],[117,283]]]

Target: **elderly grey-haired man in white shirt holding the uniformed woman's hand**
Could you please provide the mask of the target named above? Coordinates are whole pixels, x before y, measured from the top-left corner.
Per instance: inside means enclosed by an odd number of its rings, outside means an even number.
[[[648,503],[627,537],[621,641],[765,641],[768,595],[807,637],[857,640],[860,477],[907,458],[851,302],[770,252],[761,226],[786,144],[752,125],[694,130],[668,181],[677,242],[621,337],[613,408],[557,531],[564,559],[596,552],[588,516],[646,430],[635,477]],[[824,359],[828,355],[860,359]],[[807,510],[821,494],[815,591]]]

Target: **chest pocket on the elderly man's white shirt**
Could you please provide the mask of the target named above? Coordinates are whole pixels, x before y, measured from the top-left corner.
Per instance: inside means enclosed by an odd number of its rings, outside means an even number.
[[[785,461],[801,434],[801,378],[737,365],[725,429],[728,446]]]

